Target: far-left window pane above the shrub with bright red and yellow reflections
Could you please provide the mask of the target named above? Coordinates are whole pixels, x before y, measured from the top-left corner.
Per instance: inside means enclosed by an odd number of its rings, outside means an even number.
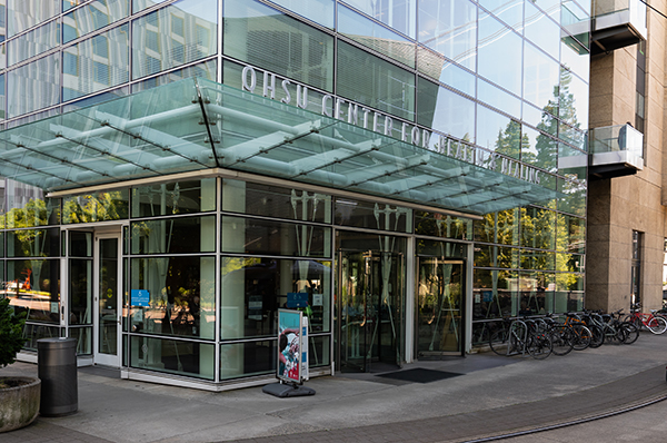
[[[4,295],[30,322],[60,323],[60,260],[7,260]]]

